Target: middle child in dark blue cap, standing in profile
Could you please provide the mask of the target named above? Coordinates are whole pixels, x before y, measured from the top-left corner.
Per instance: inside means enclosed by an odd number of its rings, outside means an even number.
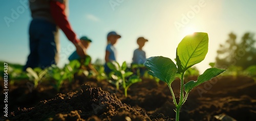
[[[106,46],[105,65],[104,65],[104,71],[106,74],[109,74],[111,72],[111,69],[108,67],[108,65],[106,65],[106,63],[116,61],[117,51],[114,45],[116,44],[119,38],[121,38],[121,36],[118,35],[116,32],[110,32],[107,36],[108,45]]]

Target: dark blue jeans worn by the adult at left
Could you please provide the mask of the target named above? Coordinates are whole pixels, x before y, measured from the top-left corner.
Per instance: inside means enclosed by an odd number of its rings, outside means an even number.
[[[59,37],[56,24],[42,19],[33,19],[29,27],[30,54],[24,67],[44,69],[58,62]]]

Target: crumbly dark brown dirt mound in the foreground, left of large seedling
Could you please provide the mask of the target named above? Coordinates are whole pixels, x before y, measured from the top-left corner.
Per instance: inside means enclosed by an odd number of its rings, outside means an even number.
[[[123,104],[114,94],[82,85],[76,93],[57,94],[35,107],[12,112],[10,120],[151,120],[142,110]]]

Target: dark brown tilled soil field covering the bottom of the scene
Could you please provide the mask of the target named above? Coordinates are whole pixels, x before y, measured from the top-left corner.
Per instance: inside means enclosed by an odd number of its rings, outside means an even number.
[[[129,88],[127,98],[122,88],[105,80],[79,77],[65,82],[59,94],[50,83],[42,82],[32,92],[26,83],[9,86],[9,117],[0,120],[175,120],[173,98],[162,81],[142,79]],[[172,87],[178,101],[179,80]],[[180,120],[256,120],[255,89],[248,77],[214,78],[191,90]]]

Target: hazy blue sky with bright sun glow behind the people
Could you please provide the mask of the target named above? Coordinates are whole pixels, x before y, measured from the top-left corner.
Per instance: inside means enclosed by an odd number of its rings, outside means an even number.
[[[25,64],[29,54],[28,27],[31,21],[27,0],[2,1],[0,5],[0,61]],[[110,4],[112,3],[112,4]],[[116,6],[115,6],[116,5]],[[104,59],[106,34],[116,31],[122,38],[116,44],[117,61],[132,62],[133,51],[140,36],[149,40],[144,46],[146,56],[175,58],[176,47],[182,38],[192,32],[206,32],[209,50],[205,60],[196,65],[202,72],[215,62],[216,50],[228,39],[228,34],[256,33],[256,1],[169,1],[169,0],[76,0],[69,2],[69,21],[78,35],[93,40],[88,49],[93,62]],[[13,10],[18,16],[12,16]],[[13,21],[6,23],[5,18]],[[15,17],[15,18],[12,18]],[[68,56],[75,47],[61,32],[61,61],[68,63]]]

